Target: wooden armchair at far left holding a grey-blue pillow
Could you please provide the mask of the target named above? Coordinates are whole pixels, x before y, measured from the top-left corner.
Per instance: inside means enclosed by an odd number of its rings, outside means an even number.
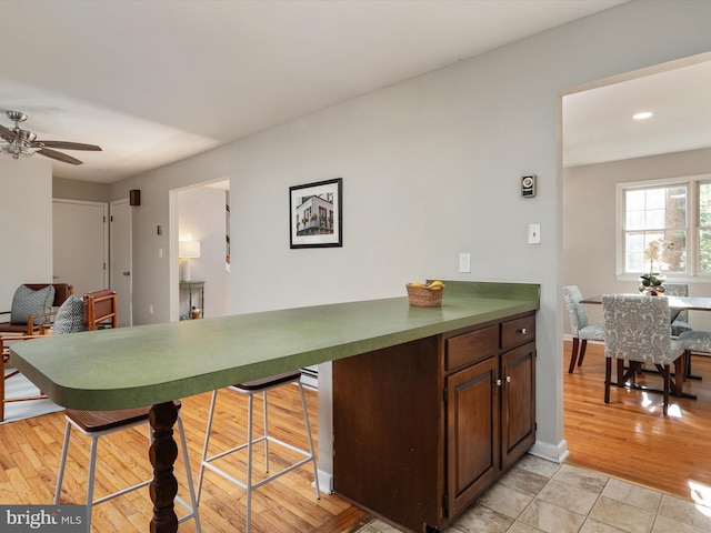
[[[16,333],[20,335],[41,334],[50,325],[57,311],[64,301],[74,293],[69,283],[26,283],[20,285],[12,299],[10,311],[0,311],[0,315],[9,315],[9,320],[0,322],[0,334]]]

